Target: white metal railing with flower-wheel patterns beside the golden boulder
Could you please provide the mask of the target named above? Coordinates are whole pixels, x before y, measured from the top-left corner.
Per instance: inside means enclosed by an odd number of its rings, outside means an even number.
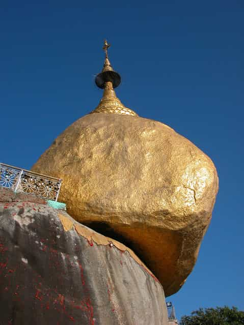
[[[0,186],[16,192],[57,201],[61,180],[0,163]]]

